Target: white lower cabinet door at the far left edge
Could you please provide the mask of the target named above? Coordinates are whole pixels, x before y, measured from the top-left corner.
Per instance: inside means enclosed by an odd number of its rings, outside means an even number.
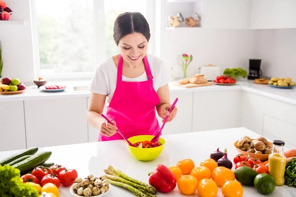
[[[23,101],[0,102],[0,151],[26,148]]]

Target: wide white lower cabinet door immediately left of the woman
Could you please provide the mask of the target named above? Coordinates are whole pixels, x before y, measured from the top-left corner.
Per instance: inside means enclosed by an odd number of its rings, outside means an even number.
[[[26,100],[28,147],[87,142],[86,98]]]

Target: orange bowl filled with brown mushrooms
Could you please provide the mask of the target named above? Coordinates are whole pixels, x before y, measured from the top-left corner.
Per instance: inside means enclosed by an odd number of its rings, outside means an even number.
[[[240,140],[234,142],[234,146],[241,154],[248,154],[260,161],[266,161],[269,154],[272,153],[273,144],[262,136],[257,137],[257,139],[243,136]]]

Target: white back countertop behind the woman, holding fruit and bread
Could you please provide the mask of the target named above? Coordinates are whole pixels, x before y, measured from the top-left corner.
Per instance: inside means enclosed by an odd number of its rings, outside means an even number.
[[[37,86],[28,86],[27,90],[22,94],[15,95],[0,95],[1,101],[13,101],[13,100],[32,100],[32,99],[60,99],[60,98],[87,98],[90,97],[88,91],[75,92],[74,86],[88,86],[89,81],[76,81],[76,82],[52,82],[49,84],[63,84],[67,86],[67,89],[63,92],[48,93],[38,89]],[[169,83],[170,93],[182,93],[182,92],[207,92],[207,91],[225,91],[225,90],[244,90],[259,94],[271,99],[277,99],[280,101],[288,102],[296,105],[296,89],[279,89],[270,87],[268,85],[255,84],[251,80],[241,79],[235,85],[222,86],[215,85],[197,87],[197,88],[183,88],[175,86],[174,82]]]

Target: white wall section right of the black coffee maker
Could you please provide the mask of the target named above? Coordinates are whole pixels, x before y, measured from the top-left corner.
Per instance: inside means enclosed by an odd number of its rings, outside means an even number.
[[[256,58],[262,59],[262,74],[296,80],[296,29],[257,30]]]

